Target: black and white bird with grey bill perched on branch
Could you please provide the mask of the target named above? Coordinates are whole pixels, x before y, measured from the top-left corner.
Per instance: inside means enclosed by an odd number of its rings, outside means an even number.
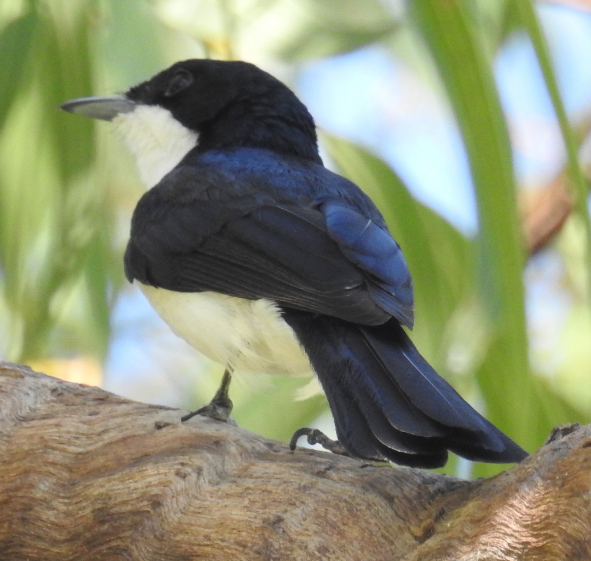
[[[235,370],[311,373],[349,456],[424,468],[449,452],[527,457],[414,346],[402,250],[369,196],[323,165],[313,117],[288,86],[248,62],[190,59],[123,95],[61,107],[111,121],[137,160],[148,189],[125,275],[226,367],[200,414],[228,418]]]

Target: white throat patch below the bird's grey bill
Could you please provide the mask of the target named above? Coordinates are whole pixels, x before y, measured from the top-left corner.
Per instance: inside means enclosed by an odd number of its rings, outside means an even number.
[[[160,182],[199,140],[197,133],[158,105],[138,105],[111,122],[134,154],[139,176],[148,188]]]

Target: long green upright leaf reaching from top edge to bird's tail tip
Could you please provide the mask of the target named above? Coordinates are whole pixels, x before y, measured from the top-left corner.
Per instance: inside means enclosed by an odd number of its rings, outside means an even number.
[[[489,322],[488,354],[479,369],[489,404],[486,414],[531,449],[540,445],[540,432],[531,427],[544,426],[545,432],[551,423],[529,373],[522,283],[525,256],[511,146],[491,60],[470,21],[469,6],[460,0],[411,2],[410,14],[456,114],[476,189],[478,286]]]

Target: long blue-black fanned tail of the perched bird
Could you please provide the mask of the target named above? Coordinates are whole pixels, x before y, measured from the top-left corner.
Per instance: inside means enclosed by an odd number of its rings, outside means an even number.
[[[480,462],[527,453],[444,381],[396,320],[364,326],[284,309],[352,456],[440,467],[447,451]]]

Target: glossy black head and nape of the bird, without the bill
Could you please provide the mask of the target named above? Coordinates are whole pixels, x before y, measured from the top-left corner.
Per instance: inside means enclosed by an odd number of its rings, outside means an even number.
[[[125,96],[199,133],[199,150],[267,148],[320,163],[314,121],[279,80],[246,62],[177,62]]]

